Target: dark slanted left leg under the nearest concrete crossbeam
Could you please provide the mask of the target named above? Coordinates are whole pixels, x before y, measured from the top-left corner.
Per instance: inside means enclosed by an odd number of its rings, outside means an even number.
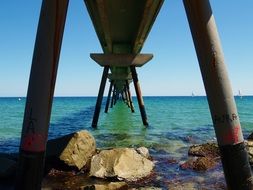
[[[96,128],[97,124],[98,124],[98,118],[99,118],[99,114],[100,114],[100,109],[101,109],[101,104],[102,104],[103,95],[104,95],[104,91],[105,91],[105,84],[106,84],[106,79],[108,77],[108,72],[109,72],[109,66],[105,66],[104,71],[103,71],[103,75],[102,75],[102,79],[101,79],[101,83],[100,83],[100,87],[99,87],[99,92],[98,92],[97,102],[96,102],[95,111],[94,111],[94,115],[93,115],[93,120],[92,120],[92,127],[93,128]]]

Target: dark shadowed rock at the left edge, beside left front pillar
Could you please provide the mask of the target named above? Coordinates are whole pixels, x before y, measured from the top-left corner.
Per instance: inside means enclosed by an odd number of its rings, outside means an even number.
[[[16,167],[16,161],[0,157],[0,179],[13,176],[16,172]]]

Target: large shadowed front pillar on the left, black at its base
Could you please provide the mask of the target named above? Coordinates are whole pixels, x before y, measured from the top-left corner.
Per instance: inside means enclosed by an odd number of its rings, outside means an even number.
[[[68,0],[43,0],[26,99],[15,189],[41,189]]]

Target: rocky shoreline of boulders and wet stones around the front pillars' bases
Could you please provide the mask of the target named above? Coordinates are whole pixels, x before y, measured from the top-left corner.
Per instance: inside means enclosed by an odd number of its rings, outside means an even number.
[[[253,165],[253,139],[249,138],[245,144]],[[221,167],[215,142],[191,145],[186,160],[155,160],[145,147],[98,149],[88,131],[79,131],[48,141],[42,189],[164,189],[154,183],[159,178],[155,168],[161,162],[181,171],[212,171],[211,175],[223,177],[222,172],[215,172]],[[1,189],[13,184],[16,166],[17,154],[0,154]],[[164,183],[167,189],[191,190],[199,189],[203,181],[201,177],[178,180],[175,175]],[[219,181],[201,189],[226,189],[226,185]]]

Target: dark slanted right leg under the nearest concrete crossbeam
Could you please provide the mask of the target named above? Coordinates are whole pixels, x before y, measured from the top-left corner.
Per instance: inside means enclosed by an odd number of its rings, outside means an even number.
[[[138,100],[138,104],[139,104],[139,108],[140,108],[140,112],[141,112],[142,122],[143,122],[143,125],[148,126],[148,119],[147,119],[147,115],[146,115],[146,110],[145,110],[143,98],[141,95],[141,88],[140,88],[140,84],[139,84],[139,80],[138,80],[135,66],[131,66],[130,69],[131,69],[131,73],[132,73],[132,77],[133,77],[133,81],[134,81],[134,87],[135,87],[136,96],[137,96],[137,100]]]

